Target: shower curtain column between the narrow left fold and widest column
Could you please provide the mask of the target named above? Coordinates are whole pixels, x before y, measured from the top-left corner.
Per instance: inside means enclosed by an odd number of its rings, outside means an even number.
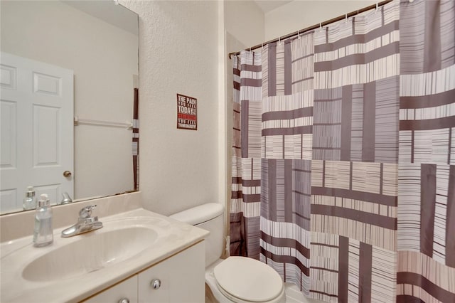
[[[310,290],[313,33],[262,51],[261,255]]]

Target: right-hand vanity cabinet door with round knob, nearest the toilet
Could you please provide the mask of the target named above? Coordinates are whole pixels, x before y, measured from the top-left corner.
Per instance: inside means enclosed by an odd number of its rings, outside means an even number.
[[[202,241],[139,273],[139,302],[205,302],[204,245]]]

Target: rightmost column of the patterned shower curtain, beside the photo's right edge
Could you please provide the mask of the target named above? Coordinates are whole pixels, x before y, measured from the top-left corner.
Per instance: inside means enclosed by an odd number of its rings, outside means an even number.
[[[455,302],[454,20],[455,1],[400,6],[397,302]]]

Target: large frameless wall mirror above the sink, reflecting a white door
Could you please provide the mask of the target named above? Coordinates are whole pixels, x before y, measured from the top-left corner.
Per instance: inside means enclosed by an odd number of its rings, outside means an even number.
[[[22,211],[28,186],[53,205],[134,191],[137,14],[112,0],[0,12],[0,213]]]

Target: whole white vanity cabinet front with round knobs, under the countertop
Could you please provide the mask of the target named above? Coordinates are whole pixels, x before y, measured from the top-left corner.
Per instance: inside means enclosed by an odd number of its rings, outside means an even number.
[[[128,301],[122,302],[122,299]],[[203,241],[142,270],[84,302],[205,302]]]

